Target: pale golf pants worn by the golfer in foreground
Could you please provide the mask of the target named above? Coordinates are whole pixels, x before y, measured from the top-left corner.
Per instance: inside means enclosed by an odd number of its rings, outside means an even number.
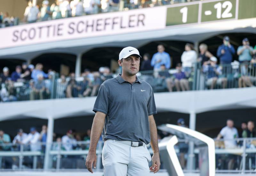
[[[107,140],[102,151],[104,176],[148,176],[151,155],[147,146],[132,147]]]

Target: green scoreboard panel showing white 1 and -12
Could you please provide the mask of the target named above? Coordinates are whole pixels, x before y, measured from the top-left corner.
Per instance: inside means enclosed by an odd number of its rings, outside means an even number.
[[[256,18],[256,0],[209,0],[167,8],[166,26]]]

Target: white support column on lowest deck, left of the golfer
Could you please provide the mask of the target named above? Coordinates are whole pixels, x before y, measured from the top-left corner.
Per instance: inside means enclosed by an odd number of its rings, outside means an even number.
[[[46,145],[45,145],[45,154],[44,154],[44,170],[51,169],[52,158],[50,155],[50,150],[52,146],[53,140],[53,127],[54,127],[54,119],[53,117],[48,117],[48,125],[47,125],[47,137],[46,137]]]

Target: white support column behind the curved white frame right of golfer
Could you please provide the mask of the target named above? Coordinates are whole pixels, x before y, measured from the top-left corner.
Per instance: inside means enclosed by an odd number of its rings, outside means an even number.
[[[196,113],[194,112],[190,112],[189,114],[189,128],[196,130]],[[187,169],[193,170],[194,168],[195,168],[194,143],[189,142]]]

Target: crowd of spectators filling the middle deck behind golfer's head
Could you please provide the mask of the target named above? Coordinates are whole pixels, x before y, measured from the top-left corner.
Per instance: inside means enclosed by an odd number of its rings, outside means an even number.
[[[228,36],[217,50],[218,59],[208,51],[206,44],[199,46],[197,55],[193,45],[187,43],[181,55],[181,63],[170,69],[172,59],[165,52],[163,45],[157,46],[157,53],[152,58],[148,53],[141,58],[140,78],[151,84],[154,92],[191,90],[193,72],[200,70],[199,79],[208,89],[227,88],[228,82],[237,82],[234,87],[250,87],[256,83],[256,46],[250,46],[248,38],[244,38],[241,46],[235,51]],[[233,61],[237,54],[238,61]],[[232,62],[233,61],[233,62]],[[220,64],[218,64],[220,63]],[[195,66],[197,66],[195,68]],[[70,73],[68,77],[56,77],[54,70],[43,71],[43,65],[36,66],[23,63],[16,66],[14,72],[4,67],[0,74],[1,101],[34,100],[49,98],[72,98],[96,96],[105,80],[115,77],[108,67],[100,67],[99,71],[85,69],[79,77]],[[53,97],[54,95],[54,97]]]

